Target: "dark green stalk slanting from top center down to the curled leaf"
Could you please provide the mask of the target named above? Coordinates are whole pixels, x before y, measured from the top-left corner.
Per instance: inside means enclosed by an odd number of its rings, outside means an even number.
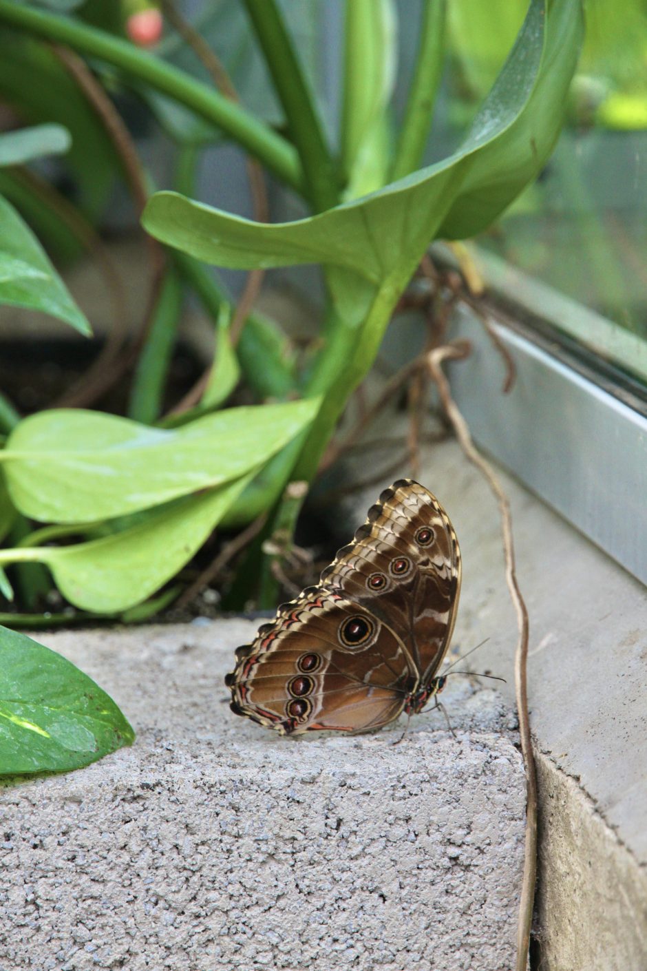
[[[301,158],[309,201],[318,212],[332,209],[340,201],[335,163],[283,17],[275,0],[244,0],[244,5]]]

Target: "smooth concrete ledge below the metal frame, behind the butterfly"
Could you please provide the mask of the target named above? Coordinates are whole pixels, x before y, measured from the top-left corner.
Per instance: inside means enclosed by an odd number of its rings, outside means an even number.
[[[405,435],[403,419],[382,421],[380,436],[404,442]],[[387,464],[393,451],[390,445],[381,456],[364,452],[363,469]],[[504,582],[496,502],[455,441],[438,443],[422,457],[417,478],[447,509],[463,552],[454,644],[467,651],[489,638],[468,658],[469,669],[506,678],[501,691],[511,702],[517,628]],[[405,468],[402,474],[408,474]],[[647,590],[500,474],[531,619],[531,723],[536,750],[545,756],[537,967],[645,971]],[[348,478],[357,476],[350,466]],[[390,473],[383,485],[393,478]],[[352,529],[383,485],[354,493],[343,503],[343,517],[337,508],[332,519],[345,518]],[[582,941],[567,945],[574,928]],[[626,960],[629,954],[633,958]]]

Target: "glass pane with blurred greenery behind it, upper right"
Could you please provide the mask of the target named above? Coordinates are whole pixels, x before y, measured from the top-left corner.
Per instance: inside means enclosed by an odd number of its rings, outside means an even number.
[[[526,6],[450,5],[452,52],[438,111],[445,125],[438,117],[436,147],[468,123]],[[477,242],[583,305],[580,316],[567,301],[559,326],[647,384],[647,2],[589,0],[585,8],[584,50],[555,153]],[[504,285],[501,264],[495,267]],[[519,276],[508,282],[519,286]]]

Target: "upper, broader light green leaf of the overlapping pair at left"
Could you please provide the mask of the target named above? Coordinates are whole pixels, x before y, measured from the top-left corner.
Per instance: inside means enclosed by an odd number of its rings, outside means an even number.
[[[31,519],[112,519],[259,468],[309,424],[318,404],[228,408],[174,430],[51,410],[21,421],[0,461],[16,507]]]

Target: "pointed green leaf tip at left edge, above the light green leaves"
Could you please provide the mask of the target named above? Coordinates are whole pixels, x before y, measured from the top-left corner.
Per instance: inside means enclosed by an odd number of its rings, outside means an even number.
[[[41,244],[1,197],[0,303],[42,311],[69,323],[81,334],[92,333]]]

